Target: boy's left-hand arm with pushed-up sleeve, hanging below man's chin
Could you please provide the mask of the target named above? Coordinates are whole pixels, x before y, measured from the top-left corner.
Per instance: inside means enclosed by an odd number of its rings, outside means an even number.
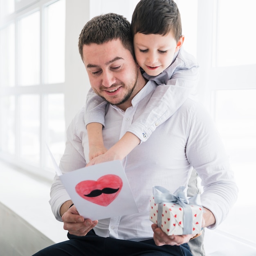
[[[90,88],[86,99],[85,127],[88,131],[89,159],[107,151],[103,144],[102,127],[104,126],[107,102]]]

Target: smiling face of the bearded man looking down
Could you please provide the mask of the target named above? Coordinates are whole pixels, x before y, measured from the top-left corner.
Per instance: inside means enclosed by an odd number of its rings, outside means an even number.
[[[136,87],[139,67],[119,39],[83,45],[83,63],[94,92],[120,108],[140,90]]]

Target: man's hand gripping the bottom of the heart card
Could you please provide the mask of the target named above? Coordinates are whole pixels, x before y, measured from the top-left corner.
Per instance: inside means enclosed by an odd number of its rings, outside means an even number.
[[[98,224],[98,220],[92,221],[80,216],[74,205],[61,218],[64,223],[63,228],[75,236],[85,236]]]

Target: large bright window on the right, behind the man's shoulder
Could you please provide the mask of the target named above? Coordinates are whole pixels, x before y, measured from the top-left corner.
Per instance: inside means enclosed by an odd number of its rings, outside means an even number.
[[[197,35],[201,100],[213,115],[239,188],[238,201],[218,229],[252,243],[253,232],[237,220],[241,208],[249,219],[256,211],[255,8],[250,0],[198,0]]]

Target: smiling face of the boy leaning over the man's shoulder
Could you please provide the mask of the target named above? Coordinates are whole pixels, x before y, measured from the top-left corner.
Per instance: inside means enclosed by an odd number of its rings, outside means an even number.
[[[173,34],[136,33],[133,37],[137,63],[150,76],[161,74],[173,61],[173,56],[182,46],[184,37],[177,43]]]

